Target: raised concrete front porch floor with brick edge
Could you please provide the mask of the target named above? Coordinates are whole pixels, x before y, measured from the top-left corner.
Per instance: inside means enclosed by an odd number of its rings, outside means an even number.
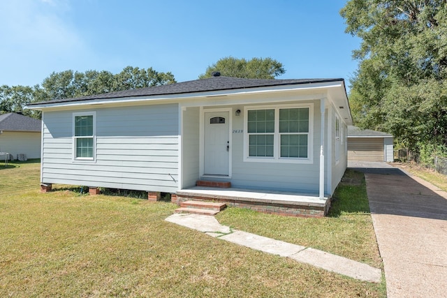
[[[245,188],[213,188],[194,186],[177,191],[172,202],[180,204],[188,200],[224,202],[231,207],[252,209],[282,216],[320,217],[328,214],[330,197],[318,198],[318,194],[286,191],[266,191]]]

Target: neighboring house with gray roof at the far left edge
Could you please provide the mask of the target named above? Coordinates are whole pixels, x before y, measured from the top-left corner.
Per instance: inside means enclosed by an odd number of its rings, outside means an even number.
[[[41,158],[42,121],[22,114],[0,115],[0,152],[7,152],[17,158]]]

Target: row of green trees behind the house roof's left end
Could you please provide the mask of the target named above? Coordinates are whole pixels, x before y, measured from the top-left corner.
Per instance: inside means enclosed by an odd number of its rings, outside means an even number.
[[[124,91],[144,87],[154,87],[175,83],[172,73],[159,73],[153,68],[127,66],[116,75],[109,71],[87,70],[85,73],[65,70],[51,73],[43,80],[41,86],[0,86],[0,114],[23,112],[30,117],[41,117],[41,113],[26,110],[29,103],[75,98],[113,91]]]

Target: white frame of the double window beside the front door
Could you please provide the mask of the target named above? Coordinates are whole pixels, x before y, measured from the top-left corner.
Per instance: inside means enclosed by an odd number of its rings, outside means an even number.
[[[279,110],[282,108],[309,108],[309,132],[307,133],[307,158],[280,157]],[[274,109],[273,157],[249,156],[248,112],[249,110]],[[314,104],[297,103],[287,105],[253,105],[244,107],[244,162],[249,163],[314,163]]]

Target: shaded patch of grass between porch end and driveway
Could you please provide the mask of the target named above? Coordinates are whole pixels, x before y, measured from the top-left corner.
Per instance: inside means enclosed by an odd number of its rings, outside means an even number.
[[[365,175],[362,172],[346,170],[332,196],[328,216],[339,217],[342,214],[369,214]]]

